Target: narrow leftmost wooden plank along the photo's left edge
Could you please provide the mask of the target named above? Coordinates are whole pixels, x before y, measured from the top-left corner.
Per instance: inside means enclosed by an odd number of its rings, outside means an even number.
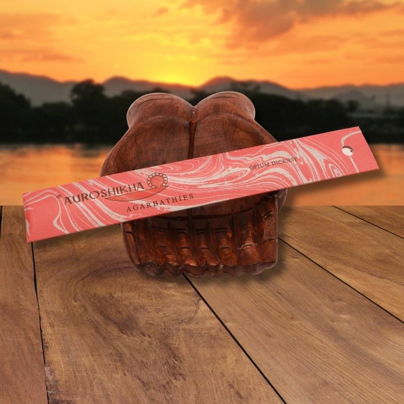
[[[22,207],[0,207],[0,222],[3,286],[0,402],[47,403],[32,249],[25,240]]]

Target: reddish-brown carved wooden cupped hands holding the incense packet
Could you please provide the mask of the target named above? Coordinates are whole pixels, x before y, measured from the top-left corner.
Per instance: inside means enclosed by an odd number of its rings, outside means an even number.
[[[129,108],[129,130],[100,175],[275,142],[254,117],[250,100],[233,91],[195,107],[171,94],[143,95]],[[258,274],[276,263],[285,198],[281,190],[123,223],[125,246],[134,267],[149,274]]]

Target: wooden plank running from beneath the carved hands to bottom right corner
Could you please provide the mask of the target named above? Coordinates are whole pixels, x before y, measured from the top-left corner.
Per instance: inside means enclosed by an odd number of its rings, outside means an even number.
[[[280,247],[258,277],[191,281],[287,402],[401,403],[401,322]]]

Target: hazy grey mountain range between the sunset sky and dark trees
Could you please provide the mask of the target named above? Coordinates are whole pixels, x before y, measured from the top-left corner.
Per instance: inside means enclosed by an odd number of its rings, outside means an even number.
[[[0,83],[7,84],[18,93],[24,94],[33,105],[45,102],[70,100],[70,90],[78,81],[57,81],[45,76],[27,73],[12,73],[0,70]],[[388,85],[353,85],[325,86],[316,88],[290,89],[267,80],[236,80],[232,77],[215,77],[206,83],[191,87],[183,84],[170,84],[148,80],[131,80],[126,77],[111,77],[100,83],[108,96],[118,95],[124,90],[136,92],[161,88],[183,98],[191,98],[192,91],[213,93],[224,90],[254,89],[263,93],[281,95],[288,98],[310,99],[336,98],[341,102],[355,100],[362,109],[378,109],[391,105],[404,106],[404,83]]]

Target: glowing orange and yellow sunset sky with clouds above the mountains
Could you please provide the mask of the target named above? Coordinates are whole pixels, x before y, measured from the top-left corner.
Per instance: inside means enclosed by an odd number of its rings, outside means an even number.
[[[404,0],[16,0],[0,69],[58,80],[404,81]]]

